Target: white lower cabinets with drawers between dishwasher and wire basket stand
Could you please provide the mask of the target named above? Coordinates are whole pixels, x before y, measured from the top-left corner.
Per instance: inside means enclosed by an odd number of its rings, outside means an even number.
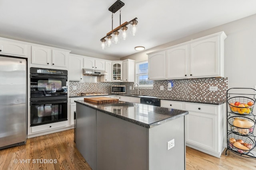
[[[211,105],[161,100],[161,107],[187,110],[185,115],[186,145],[220,158],[226,146],[226,104]]]

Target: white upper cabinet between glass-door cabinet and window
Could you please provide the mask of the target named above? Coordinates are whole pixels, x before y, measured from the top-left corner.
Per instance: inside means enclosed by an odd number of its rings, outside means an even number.
[[[123,61],[123,82],[134,82],[135,79],[135,61],[124,60]]]

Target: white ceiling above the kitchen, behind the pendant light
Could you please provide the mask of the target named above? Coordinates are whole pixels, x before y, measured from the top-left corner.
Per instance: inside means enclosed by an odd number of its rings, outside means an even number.
[[[121,23],[138,18],[138,35],[105,50],[116,0],[0,0],[0,35],[111,57],[125,57],[256,14],[255,0],[122,0]],[[119,11],[113,28],[120,25]],[[129,29],[129,27],[128,27]]]

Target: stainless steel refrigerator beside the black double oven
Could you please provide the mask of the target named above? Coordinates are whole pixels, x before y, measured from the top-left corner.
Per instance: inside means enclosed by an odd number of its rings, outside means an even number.
[[[0,149],[27,139],[27,62],[0,55]]]

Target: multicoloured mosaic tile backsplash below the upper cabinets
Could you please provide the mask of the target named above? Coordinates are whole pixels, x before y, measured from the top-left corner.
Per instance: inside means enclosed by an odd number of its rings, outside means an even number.
[[[168,82],[172,83],[172,90],[168,91]],[[111,94],[111,85],[125,85],[127,94],[134,94],[133,82],[100,82],[100,83],[82,83],[76,81],[69,82],[70,96],[77,96],[81,92],[102,92]],[[76,86],[76,90],[72,90]],[[164,90],[160,90],[164,86]],[[210,86],[217,86],[217,91],[210,91]],[[177,97],[201,100],[226,100],[226,91],[228,90],[228,78],[196,78],[180,80],[155,80],[153,88],[139,89],[142,94],[157,97]]]

